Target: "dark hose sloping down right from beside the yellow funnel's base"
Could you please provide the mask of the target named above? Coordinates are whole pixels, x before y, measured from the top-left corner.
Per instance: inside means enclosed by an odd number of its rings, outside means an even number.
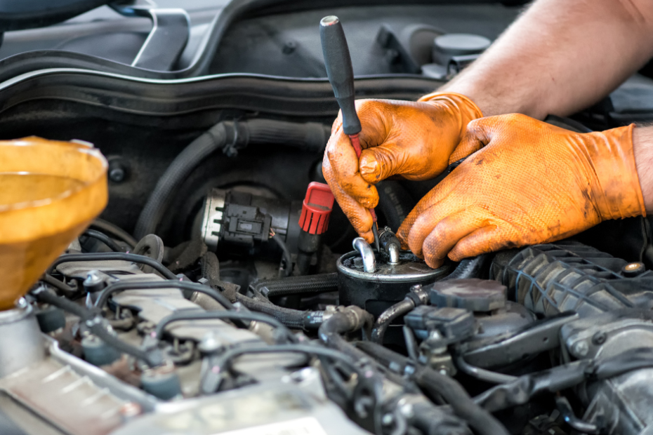
[[[78,316],[81,321],[86,323],[86,326],[95,334],[100,340],[105,342],[105,344],[117,349],[119,352],[133,356],[136,359],[143,360],[150,367],[160,366],[163,363],[161,354],[157,352],[146,352],[143,349],[132,346],[127,342],[120,340],[118,337],[113,335],[107,330],[106,326],[103,325],[99,319],[99,314],[89,311],[88,309],[81,307],[70,300],[67,300],[65,297],[58,297],[48,293],[45,290],[41,290],[36,293],[32,293],[34,297],[37,298],[39,302],[44,302],[46,304],[53,305],[58,307],[66,312]]]

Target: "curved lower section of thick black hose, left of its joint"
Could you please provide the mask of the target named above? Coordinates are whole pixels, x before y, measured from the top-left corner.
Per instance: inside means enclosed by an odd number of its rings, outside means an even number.
[[[209,128],[199,138],[190,142],[190,145],[176,156],[159,178],[152,194],[150,194],[150,198],[145,203],[143,211],[140,212],[138,222],[136,222],[136,229],[134,229],[136,239],[143,239],[147,234],[156,234],[157,226],[163,219],[164,213],[178,187],[199,163],[202,163],[217,149],[224,147],[226,142],[225,123],[220,122]]]

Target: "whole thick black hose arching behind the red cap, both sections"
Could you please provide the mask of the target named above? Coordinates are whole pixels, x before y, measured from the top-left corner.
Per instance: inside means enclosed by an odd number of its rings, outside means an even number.
[[[208,156],[227,145],[238,148],[247,145],[286,145],[307,151],[319,152],[324,149],[329,131],[322,123],[293,123],[270,119],[251,121],[221,121],[209,128],[199,138],[190,142],[170,163],[143,211],[140,212],[134,235],[142,239],[147,234],[156,234],[157,227],[173,200],[177,189]]]

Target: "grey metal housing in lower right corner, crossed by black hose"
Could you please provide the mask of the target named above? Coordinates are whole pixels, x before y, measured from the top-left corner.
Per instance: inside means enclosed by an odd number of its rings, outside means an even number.
[[[579,319],[560,332],[572,359],[606,359],[642,347],[653,348],[653,314],[620,309]],[[635,435],[653,430],[653,368],[642,368],[578,388],[586,406],[583,420],[602,434]]]

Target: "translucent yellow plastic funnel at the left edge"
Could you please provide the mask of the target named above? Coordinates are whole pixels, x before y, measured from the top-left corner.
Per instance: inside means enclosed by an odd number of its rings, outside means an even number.
[[[92,147],[0,141],[0,310],[25,295],[107,205],[107,161]]]

